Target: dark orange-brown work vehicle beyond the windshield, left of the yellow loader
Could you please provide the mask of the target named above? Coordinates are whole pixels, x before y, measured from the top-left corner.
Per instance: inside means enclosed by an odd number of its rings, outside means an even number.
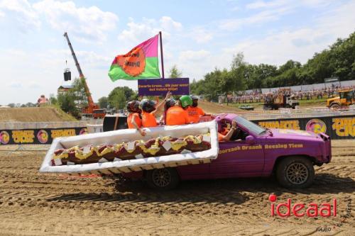
[[[263,109],[278,110],[278,108],[293,108],[300,103],[291,95],[290,89],[280,89],[276,94],[268,93],[265,96]]]

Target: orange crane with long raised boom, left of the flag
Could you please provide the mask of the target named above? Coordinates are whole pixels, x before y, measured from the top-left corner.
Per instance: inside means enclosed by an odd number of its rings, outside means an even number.
[[[92,96],[89,91],[89,86],[87,86],[84,74],[82,74],[82,69],[80,68],[79,62],[77,61],[77,56],[75,55],[74,49],[72,48],[72,44],[70,43],[70,40],[67,36],[67,32],[65,32],[63,36],[67,39],[67,44],[69,45],[70,51],[72,52],[72,57],[74,58],[75,66],[77,67],[77,72],[79,72],[80,80],[82,84],[84,84],[85,94],[87,95],[87,107],[82,108],[82,116],[104,118],[106,112],[103,109],[99,109],[99,106],[95,104],[92,100]]]

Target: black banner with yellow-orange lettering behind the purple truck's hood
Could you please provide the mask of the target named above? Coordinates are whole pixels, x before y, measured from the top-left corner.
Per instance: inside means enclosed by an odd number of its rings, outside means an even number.
[[[264,128],[308,130],[325,133],[334,140],[355,138],[355,116],[327,116],[320,118],[285,118],[251,120]]]

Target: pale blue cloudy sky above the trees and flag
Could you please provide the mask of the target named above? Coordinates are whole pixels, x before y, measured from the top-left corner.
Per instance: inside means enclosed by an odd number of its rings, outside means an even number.
[[[354,32],[354,12],[355,1],[332,0],[0,0],[0,104],[56,94],[65,67],[78,76],[65,31],[97,101],[115,86],[136,89],[111,82],[109,66],[159,30],[165,74],[175,64],[198,80],[238,52],[251,64],[305,63]]]

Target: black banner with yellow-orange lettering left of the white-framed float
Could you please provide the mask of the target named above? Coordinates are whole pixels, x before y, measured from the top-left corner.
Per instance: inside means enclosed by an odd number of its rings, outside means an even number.
[[[55,137],[86,133],[86,127],[0,130],[0,145],[50,145]]]

